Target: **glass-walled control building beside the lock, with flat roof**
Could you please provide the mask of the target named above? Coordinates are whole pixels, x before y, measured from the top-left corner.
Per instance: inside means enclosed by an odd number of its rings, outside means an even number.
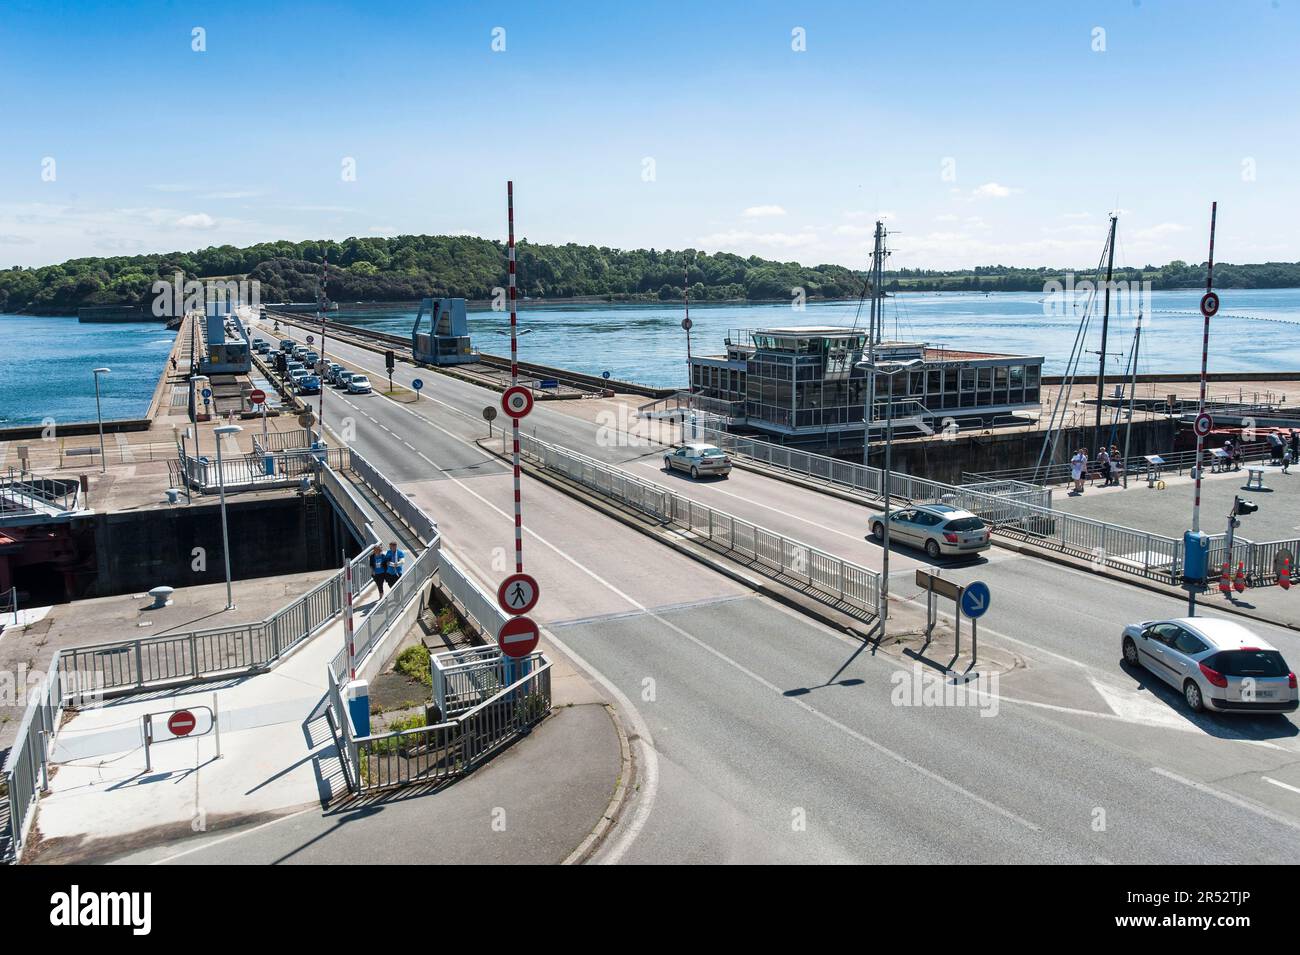
[[[736,424],[781,440],[853,433],[863,427],[868,376],[858,366],[867,334],[844,327],[762,329],[732,334],[727,355],[692,360],[697,395],[732,403]],[[933,430],[958,424],[1011,424],[1015,412],[1039,408],[1041,356],[931,348],[881,342],[876,361],[920,360],[890,378],[878,374],[879,426],[894,403],[896,418],[920,417]]]

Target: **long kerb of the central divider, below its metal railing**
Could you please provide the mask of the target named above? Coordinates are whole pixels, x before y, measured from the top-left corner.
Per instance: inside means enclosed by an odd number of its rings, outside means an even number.
[[[510,460],[500,451],[490,447],[486,442],[489,438],[480,438],[478,446],[482,447],[491,455],[500,457],[502,460]],[[646,537],[654,538],[659,543],[672,547],[679,554],[682,554],[692,560],[696,560],[705,567],[723,574],[724,577],[748,587],[762,596],[775,600],[785,607],[789,607],[798,613],[812,617],[814,620],[826,624],[827,626],[846,633],[857,639],[868,641],[872,639],[876,626],[874,624],[867,624],[866,621],[858,620],[857,617],[849,616],[848,613],[841,613],[832,607],[827,607],[820,600],[815,600],[806,594],[800,592],[794,587],[788,587],[783,583],[775,581],[766,581],[760,578],[751,577],[744,573],[738,567],[733,567],[732,561],[719,557],[708,548],[696,544],[688,538],[679,535],[675,531],[666,530],[658,522],[653,522],[650,518],[641,516],[633,516],[628,511],[620,507],[607,503],[603,498],[592,494],[585,487],[576,485],[564,478],[550,474],[545,469],[537,468],[532,463],[520,461],[520,469],[542,483],[554,487],[555,490],[567,494],[568,496],[592,507],[607,517],[612,517],[620,524],[637,530]],[[900,618],[906,620],[911,613],[913,605],[907,602],[900,602],[897,599],[890,604],[889,618],[892,621],[898,621]],[[919,615],[918,615],[919,616]],[[907,626],[910,631],[913,626]],[[920,629],[916,626],[915,629]]]

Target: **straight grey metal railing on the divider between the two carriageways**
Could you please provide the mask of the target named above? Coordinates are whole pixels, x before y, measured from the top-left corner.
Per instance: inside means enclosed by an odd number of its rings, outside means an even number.
[[[685,528],[725,554],[794,579],[823,600],[879,613],[880,574],[875,570],[632,477],[576,451],[520,435],[520,452],[547,470],[666,524]]]

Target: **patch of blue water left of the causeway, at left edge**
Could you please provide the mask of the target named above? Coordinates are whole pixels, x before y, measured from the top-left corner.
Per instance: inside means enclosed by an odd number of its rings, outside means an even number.
[[[95,376],[104,418],[144,414],[176,340],[162,322],[82,325],[75,317],[0,314],[0,427],[95,420]]]

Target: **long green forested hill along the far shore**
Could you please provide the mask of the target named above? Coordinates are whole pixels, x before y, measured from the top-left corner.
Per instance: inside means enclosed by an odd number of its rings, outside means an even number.
[[[218,246],[61,265],[0,270],[0,312],[72,313],[79,305],[148,304],[157,279],[257,279],[263,301],[315,301],[321,262],[329,253],[334,301],[413,301],[425,295],[489,299],[506,285],[506,249],[465,235],[399,235],[343,242],[270,242],[247,248]],[[855,298],[863,272],[841,265],[806,266],[729,252],[615,249],[597,246],[517,247],[519,286],[533,299],[598,298],[611,301],[681,298],[684,270],[696,301],[789,299],[802,288],[810,300]],[[984,265],[975,269],[887,272],[887,290],[1043,291],[1062,269]],[[1091,275],[1078,269],[1076,278]],[[1117,270],[1117,279],[1150,281],[1154,288],[1204,286],[1204,265],[1170,262]],[[1300,287],[1300,262],[1219,264],[1221,288]]]

